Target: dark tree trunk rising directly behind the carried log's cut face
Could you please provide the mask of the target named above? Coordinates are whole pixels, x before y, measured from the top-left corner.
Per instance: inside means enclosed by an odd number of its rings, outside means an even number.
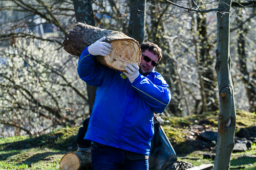
[[[145,0],[130,1],[130,22],[128,28],[128,35],[139,41],[139,43],[142,43],[145,37],[145,10]]]

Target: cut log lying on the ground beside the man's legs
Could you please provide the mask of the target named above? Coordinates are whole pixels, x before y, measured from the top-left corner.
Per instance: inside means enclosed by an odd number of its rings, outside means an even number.
[[[91,153],[70,152],[65,154],[60,162],[61,170],[93,169]]]

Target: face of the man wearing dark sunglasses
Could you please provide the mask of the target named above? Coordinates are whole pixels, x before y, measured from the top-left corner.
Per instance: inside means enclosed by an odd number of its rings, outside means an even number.
[[[152,61],[157,62],[158,61],[158,56],[154,55],[153,53],[149,52],[148,50],[146,50],[145,52],[142,53],[144,56],[147,56],[148,58],[150,58]],[[150,74],[150,72],[155,68],[152,65],[152,61],[150,62],[146,62],[144,60],[144,56],[141,55],[141,60],[140,60],[140,65],[139,65],[139,72],[141,75],[143,76],[147,76],[148,74]]]

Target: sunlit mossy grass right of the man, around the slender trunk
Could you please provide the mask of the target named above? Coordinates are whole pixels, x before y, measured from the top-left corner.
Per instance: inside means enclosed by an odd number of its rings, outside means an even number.
[[[214,160],[203,159],[203,154],[215,154],[215,142],[198,142],[196,138],[189,138],[193,126],[198,126],[205,131],[218,130],[219,112],[208,112],[201,115],[191,115],[187,117],[164,117],[165,124],[163,129],[172,143],[177,153],[178,161],[186,161],[195,166],[200,164],[214,164]],[[256,132],[255,126],[256,114],[237,110],[237,128],[236,133],[241,128]],[[196,131],[197,133],[198,131]],[[254,141],[256,142],[256,141]],[[204,145],[204,148],[202,148]],[[192,159],[192,158],[199,159]],[[189,159],[183,159],[189,158]],[[256,169],[256,144],[253,143],[250,150],[246,152],[232,153],[231,168]]]

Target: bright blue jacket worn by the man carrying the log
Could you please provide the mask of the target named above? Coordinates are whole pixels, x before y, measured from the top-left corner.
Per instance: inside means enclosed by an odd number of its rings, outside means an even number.
[[[87,48],[79,57],[78,75],[98,89],[84,139],[149,155],[154,112],[169,104],[168,85],[154,70],[131,84],[121,71],[96,63]]]

